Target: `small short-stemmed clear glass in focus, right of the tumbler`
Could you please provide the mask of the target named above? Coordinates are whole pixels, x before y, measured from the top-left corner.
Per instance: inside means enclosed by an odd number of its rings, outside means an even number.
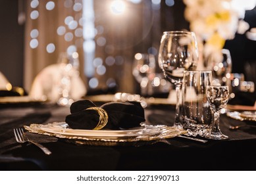
[[[228,85],[208,85],[207,86],[207,101],[214,113],[214,122],[211,128],[211,133],[205,135],[209,139],[228,139],[220,131],[220,110],[228,103],[229,91]]]

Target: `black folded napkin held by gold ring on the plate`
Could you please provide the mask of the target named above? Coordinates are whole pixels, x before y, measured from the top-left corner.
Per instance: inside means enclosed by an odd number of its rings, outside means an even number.
[[[88,109],[91,107],[96,107],[96,105],[89,100],[72,103],[71,114],[66,116],[68,126],[72,129],[95,128],[99,122],[99,113],[97,110]],[[109,116],[103,129],[128,129],[138,127],[141,122],[145,122],[144,109],[139,102],[111,102],[99,108],[103,108]]]

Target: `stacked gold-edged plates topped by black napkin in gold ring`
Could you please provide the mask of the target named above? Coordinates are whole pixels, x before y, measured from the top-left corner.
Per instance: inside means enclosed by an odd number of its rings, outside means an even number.
[[[139,102],[111,102],[98,107],[89,100],[70,106],[65,122],[24,126],[32,133],[55,136],[79,145],[147,145],[186,133],[169,126],[145,123]]]

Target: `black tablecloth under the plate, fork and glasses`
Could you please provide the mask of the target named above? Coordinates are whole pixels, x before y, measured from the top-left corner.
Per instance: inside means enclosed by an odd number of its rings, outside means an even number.
[[[47,156],[31,144],[16,143],[13,128],[32,123],[63,122],[69,108],[55,104],[0,106],[1,170],[256,170],[256,124],[220,117],[222,133],[230,139],[199,143],[181,137],[165,139],[153,145],[88,146],[67,143],[63,139],[27,133],[52,152]],[[174,106],[147,106],[150,124],[174,121]],[[250,124],[230,130],[223,121]],[[253,127],[255,126],[255,127]]]

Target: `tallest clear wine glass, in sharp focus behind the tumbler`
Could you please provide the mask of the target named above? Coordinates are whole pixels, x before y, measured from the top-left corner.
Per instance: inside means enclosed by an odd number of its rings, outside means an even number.
[[[198,47],[195,34],[188,31],[164,32],[159,48],[159,66],[165,78],[175,85],[176,112],[174,126],[180,122],[180,87],[183,73],[195,70],[198,61]]]

